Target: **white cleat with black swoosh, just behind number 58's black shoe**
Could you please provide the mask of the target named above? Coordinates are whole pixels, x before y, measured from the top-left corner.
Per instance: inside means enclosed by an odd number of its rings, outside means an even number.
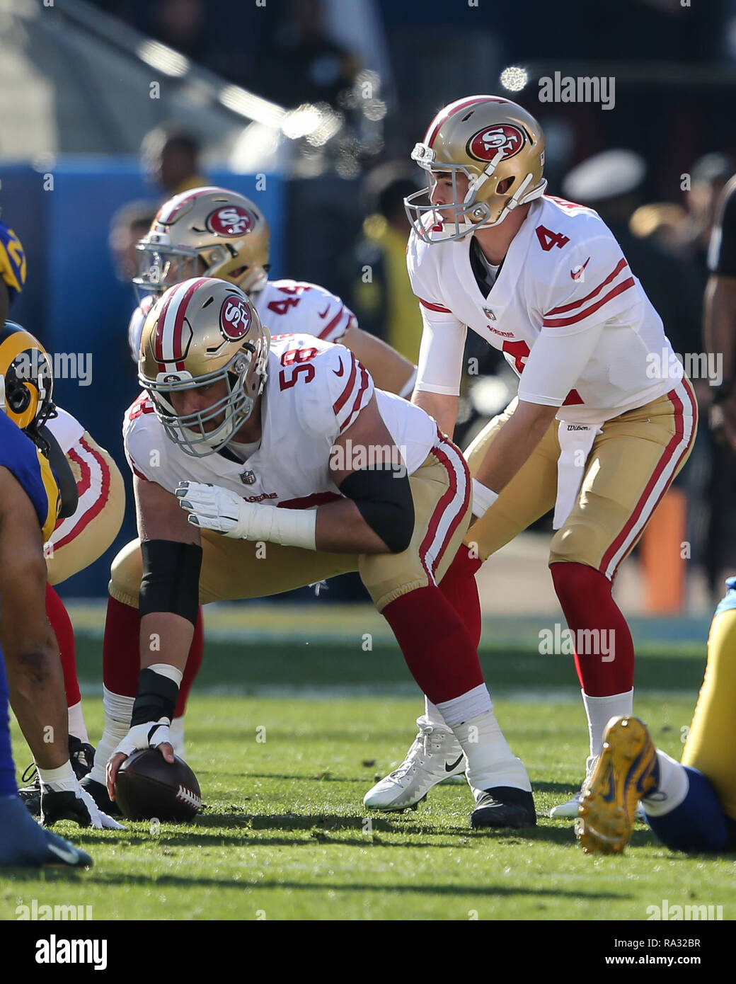
[[[423,715],[417,717],[416,723],[419,733],[399,769],[377,782],[363,797],[367,809],[416,809],[432,786],[464,773],[465,756],[453,732],[430,724]]]

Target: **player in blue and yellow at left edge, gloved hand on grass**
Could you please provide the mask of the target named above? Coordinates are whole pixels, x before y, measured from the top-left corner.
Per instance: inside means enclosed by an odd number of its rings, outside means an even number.
[[[56,412],[48,355],[20,326],[0,332],[0,863],[87,867],[90,857],[31,820],[17,795],[8,697],[31,746],[45,825],[120,825],[82,791],[69,759],[58,647],[45,615],[43,542],[77,508],[77,484],[45,426]],[[7,671],[7,680],[6,680]]]

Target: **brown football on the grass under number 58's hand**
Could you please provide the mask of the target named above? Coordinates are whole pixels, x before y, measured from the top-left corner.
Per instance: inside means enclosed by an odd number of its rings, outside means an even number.
[[[183,759],[165,762],[154,748],[126,759],[115,780],[115,801],[128,820],[185,822],[202,809],[197,776]]]

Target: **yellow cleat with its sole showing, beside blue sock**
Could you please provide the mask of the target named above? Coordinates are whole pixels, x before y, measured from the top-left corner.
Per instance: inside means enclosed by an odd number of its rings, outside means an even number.
[[[656,788],[656,766],[656,749],[644,721],[612,717],[598,764],[583,785],[575,822],[585,854],[623,853],[637,804]]]

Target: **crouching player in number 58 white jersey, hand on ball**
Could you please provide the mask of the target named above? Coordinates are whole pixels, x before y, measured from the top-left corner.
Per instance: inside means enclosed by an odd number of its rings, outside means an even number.
[[[470,518],[460,452],[419,407],[376,390],[344,346],[270,341],[246,295],[208,277],[171,287],[147,317],[148,397],[123,428],[140,540],[115,559],[110,585],[120,650],[140,640],[141,660],[108,696],[88,779],[109,755],[112,796],[135,749],[160,747],[171,760],[199,603],[357,570],[466,756],[472,825],[535,823],[476,648],[438,587]]]

